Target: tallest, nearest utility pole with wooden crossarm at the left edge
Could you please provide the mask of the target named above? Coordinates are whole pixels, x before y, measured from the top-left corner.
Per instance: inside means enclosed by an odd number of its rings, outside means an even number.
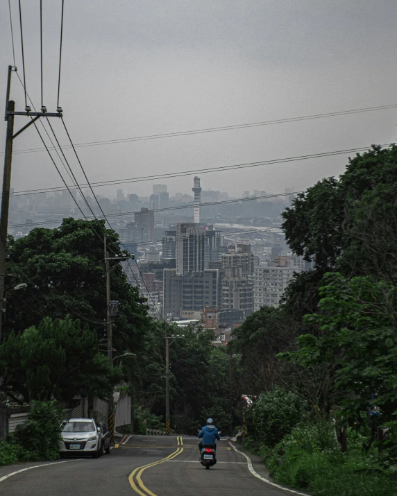
[[[6,277],[6,251],[7,251],[7,232],[8,232],[8,209],[10,207],[10,185],[11,185],[11,163],[12,163],[12,144],[14,139],[24,130],[31,126],[40,117],[62,117],[62,108],[58,107],[56,113],[47,112],[47,108],[42,107],[42,112],[31,112],[31,108],[26,106],[25,112],[15,112],[15,102],[10,100],[11,74],[17,71],[17,67],[8,66],[8,79],[6,89],[6,112],[4,120],[7,121],[6,134],[6,154],[4,156],[3,172],[3,189],[1,197],[1,219],[0,219],[0,343],[1,327],[3,323],[3,298],[4,298],[4,280]],[[14,134],[14,117],[15,115],[24,115],[31,118],[26,126],[19,129]],[[33,119],[34,117],[34,119]]]

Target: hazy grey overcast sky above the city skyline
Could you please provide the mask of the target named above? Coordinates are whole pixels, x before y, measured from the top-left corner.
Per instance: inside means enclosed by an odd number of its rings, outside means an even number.
[[[22,78],[18,1],[10,3]],[[49,112],[56,110],[61,3],[43,0]],[[22,0],[22,16],[26,89],[40,108],[39,2]],[[60,80],[65,123],[79,144],[397,103],[396,18],[395,0],[65,0]],[[13,64],[6,0],[0,3],[0,46],[3,98]],[[15,77],[11,96],[16,110],[24,110]],[[25,123],[26,117],[17,117],[15,130]],[[51,124],[60,144],[67,144],[60,119]],[[77,151],[96,182],[387,144],[396,140],[396,124],[395,108]],[[5,134],[2,120],[1,142]],[[15,151],[40,147],[33,126],[15,139]],[[72,151],[65,154],[85,182]],[[339,176],[347,162],[348,154],[199,176],[203,189],[231,196],[254,189],[282,193]],[[170,194],[191,194],[193,176],[120,187],[126,194],[148,195],[158,182],[167,182]],[[14,154],[15,191],[60,185],[47,152]],[[116,187],[95,191],[115,196]]]

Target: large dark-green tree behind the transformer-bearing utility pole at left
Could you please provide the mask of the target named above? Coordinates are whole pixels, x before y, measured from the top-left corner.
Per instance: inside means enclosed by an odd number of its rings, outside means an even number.
[[[59,228],[36,228],[10,240],[7,271],[28,288],[9,298],[5,336],[37,326],[47,316],[71,314],[95,326],[105,348],[105,233],[110,253],[121,255],[118,234],[105,230],[103,221],[63,219]],[[113,348],[137,352],[152,325],[146,300],[130,285],[120,264],[111,261],[111,269],[111,298],[120,302],[119,315],[113,319]]]

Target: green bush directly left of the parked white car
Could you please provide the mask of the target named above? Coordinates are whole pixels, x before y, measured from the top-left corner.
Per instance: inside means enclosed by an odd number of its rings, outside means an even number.
[[[15,432],[17,442],[29,453],[31,460],[58,459],[62,411],[55,401],[33,401],[29,413],[28,420]]]

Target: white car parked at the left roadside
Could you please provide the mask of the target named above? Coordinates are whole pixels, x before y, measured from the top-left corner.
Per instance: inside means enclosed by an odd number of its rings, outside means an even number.
[[[88,455],[99,458],[110,454],[110,432],[93,418],[69,418],[61,424],[60,456]]]

